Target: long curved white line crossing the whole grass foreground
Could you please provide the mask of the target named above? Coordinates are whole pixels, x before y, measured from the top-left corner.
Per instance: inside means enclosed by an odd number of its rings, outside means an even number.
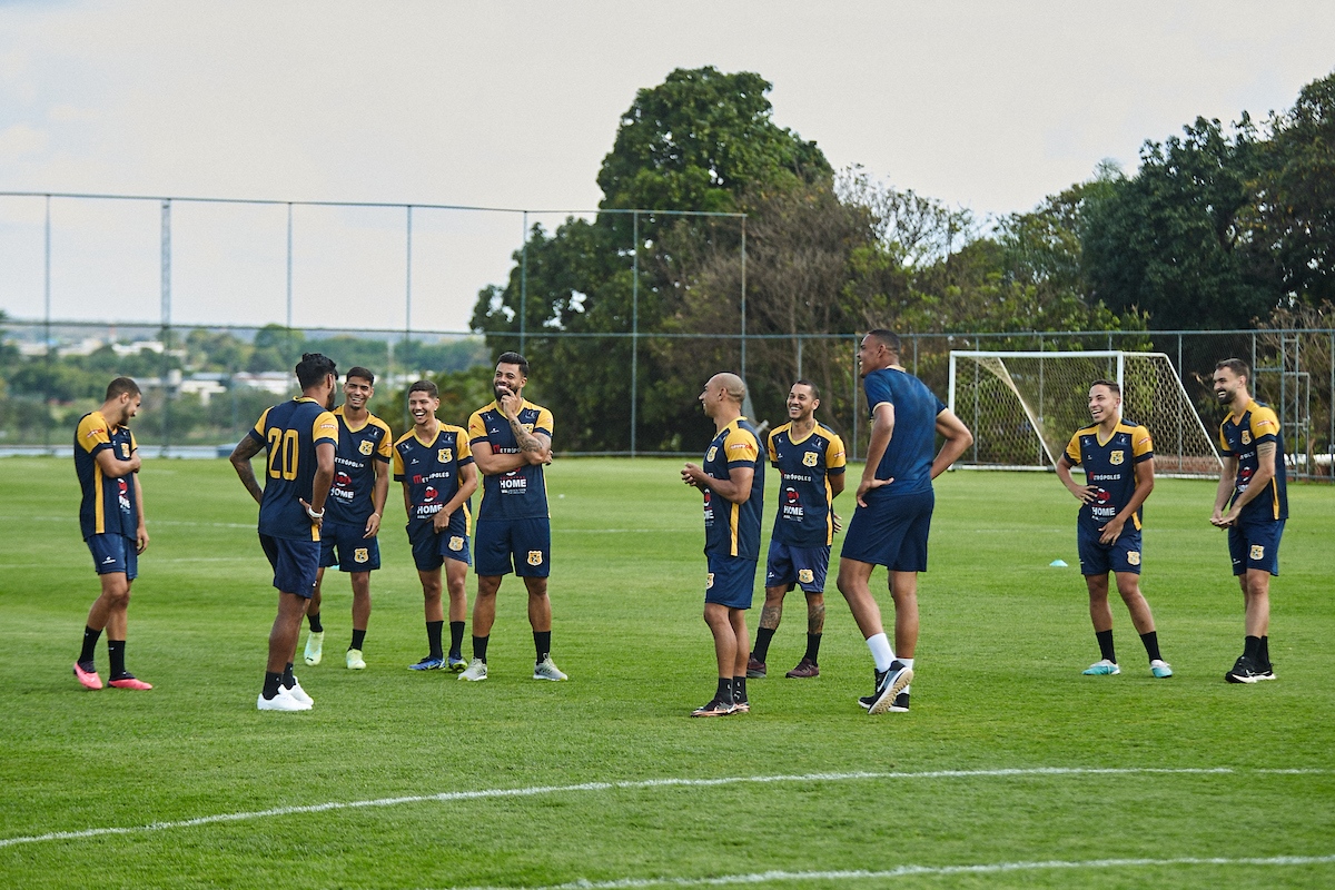
[[[166,831],[168,829],[190,829],[200,825],[215,825],[220,822],[246,822],[251,819],[268,819],[284,815],[299,815],[304,813],[330,813],[335,810],[358,810],[364,807],[387,807],[403,803],[446,803],[453,801],[481,801],[489,798],[518,798],[537,797],[542,794],[566,794],[573,791],[611,791],[622,789],[659,789],[659,787],[716,787],[724,785],[768,785],[778,782],[849,782],[865,779],[971,779],[971,778],[1008,778],[1008,777],[1068,777],[1068,775],[1324,775],[1328,770],[1235,770],[1231,767],[1031,767],[1007,770],[930,770],[924,773],[808,773],[802,775],[733,775],[717,779],[641,779],[638,782],[583,782],[581,785],[538,785],[523,789],[481,789],[477,791],[442,791],[439,794],[413,794],[395,798],[378,798],[372,801],[330,801],[327,803],[308,803],[304,806],[279,806],[270,810],[252,810],[243,813],[219,813],[215,815],[200,815],[194,819],[175,819],[171,822],[151,822],[136,826],[115,826],[103,829],[83,829],[79,831],[49,831],[47,834],[31,834],[16,838],[0,838],[0,847],[13,847],[24,843],[40,843],[43,841],[81,841],[84,838],[99,838],[109,834],[140,834],[147,831]]]

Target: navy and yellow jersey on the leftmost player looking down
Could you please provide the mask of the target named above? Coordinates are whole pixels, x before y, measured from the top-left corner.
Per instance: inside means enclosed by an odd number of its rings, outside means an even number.
[[[132,472],[124,476],[104,475],[97,464],[97,454],[111,448],[117,460],[129,460],[138,447],[129,427],[112,428],[101,411],[92,411],[79,419],[75,430],[75,475],[83,490],[79,530],[84,540],[92,535],[135,536],[139,528],[135,486],[139,482]]]

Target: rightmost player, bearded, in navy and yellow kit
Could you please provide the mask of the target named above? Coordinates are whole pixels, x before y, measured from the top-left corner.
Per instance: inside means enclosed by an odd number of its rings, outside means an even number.
[[[1215,398],[1228,408],[1228,416],[1219,426],[1224,470],[1210,522],[1228,530],[1228,554],[1243,588],[1247,634],[1243,654],[1224,674],[1230,683],[1275,679],[1270,660],[1270,576],[1279,575],[1279,539],[1288,519],[1279,418],[1247,394],[1250,379],[1251,368],[1240,359],[1215,366]]]

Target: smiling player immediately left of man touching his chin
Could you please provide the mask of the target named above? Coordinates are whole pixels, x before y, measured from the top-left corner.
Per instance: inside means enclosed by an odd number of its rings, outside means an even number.
[[[403,483],[403,508],[409,514],[413,562],[422,579],[426,603],[427,656],[409,667],[434,671],[465,669],[463,619],[469,614],[465,588],[469,572],[469,534],[473,512],[469,499],[478,490],[469,434],[435,418],[441,392],[431,380],[409,387],[413,428],[394,443],[394,479]],[[450,591],[450,656],[441,644],[445,610],[441,606],[441,566]]]

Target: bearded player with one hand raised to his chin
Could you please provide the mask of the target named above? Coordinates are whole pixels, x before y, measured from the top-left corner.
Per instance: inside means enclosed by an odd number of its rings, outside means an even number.
[[[529,360],[502,352],[491,379],[495,400],[469,418],[469,444],[482,471],[474,552],[478,599],[473,603],[473,660],[459,679],[487,678],[487,642],[501,579],[513,570],[529,590],[533,679],[563,681],[551,660],[551,519],[542,467],[551,463],[551,412],[523,398]]]

